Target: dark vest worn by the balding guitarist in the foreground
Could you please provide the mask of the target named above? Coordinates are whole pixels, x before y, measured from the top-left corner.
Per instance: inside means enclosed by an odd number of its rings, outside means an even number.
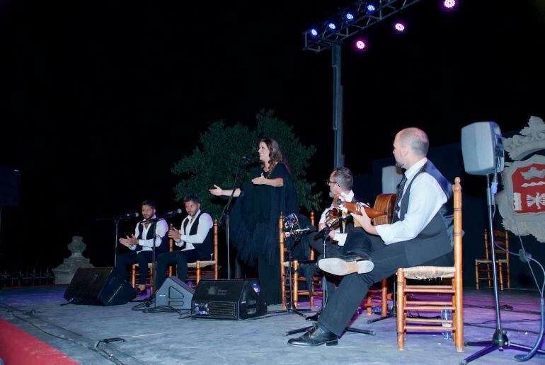
[[[409,199],[411,196],[411,185],[420,173],[429,173],[439,183],[444,194],[447,195],[445,202],[435,214],[430,223],[418,233],[418,236],[409,241],[403,241],[403,247],[407,260],[412,266],[421,265],[424,262],[446,255],[453,250],[452,228],[454,222],[454,207],[452,201],[452,185],[444,178],[431,161],[427,161],[409,183],[405,194],[401,198],[401,209],[399,219],[403,221],[407,213]]]

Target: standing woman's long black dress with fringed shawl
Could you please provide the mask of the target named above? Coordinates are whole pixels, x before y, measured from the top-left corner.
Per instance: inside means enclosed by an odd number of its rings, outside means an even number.
[[[244,182],[231,212],[230,235],[241,260],[251,266],[258,264],[260,296],[267,304],[277,304],[282,301],[278,219],[280,212],[299,213],[299,204],[292,176],[283,163],[277,163],[270,175],[258,168],[251,179],[261,173],[269,179],[282,178],[284,185]]]

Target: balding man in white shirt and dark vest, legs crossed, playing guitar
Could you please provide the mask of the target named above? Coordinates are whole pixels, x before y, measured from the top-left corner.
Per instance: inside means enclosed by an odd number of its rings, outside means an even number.
[[[428,136],[418,128],[406,128],[396,134],[396,165],[406,172],[398,186],[394,223],[373,226],[363,209],[361,216],[352,214],[362,228],[355,228],[348,241],[372,243],[373,270],[358,273],[362,271],[360,262],[342,257],[321,260],[322,270],[345,277],[328,299],[317,325],[288,344],[305,347],[337,344],[338,336],[344,332],[369,287],[391,276],[399,267],[454,265],[449,237],[452,189],[426,158],[428,146]]]

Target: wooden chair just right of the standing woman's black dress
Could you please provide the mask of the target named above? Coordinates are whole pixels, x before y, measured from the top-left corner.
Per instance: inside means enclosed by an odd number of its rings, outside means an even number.
[[[289,300],[290,292],[289,292],[289,275],[288,275],[288,265],[289,262],[285,260],[287,249],[285,248],[285,236],[282,231],[284,228],[284,220],[283,215],[280,213],[280,219],[278,221],[278,229],[280,237],[280,274],[281,274],[281,280],[282,280],[282,307],[285,309],[287,308],[287,300]],[[314,226],[314,212],[311,212],[310,214],[311,224]],[[315,253],[314,250],[311,248],[311,254],[310,254],[310,261],[315,260]],[[309,304],[310,307],[314,307],[314,297],[315,296],[321,296],[321,292],[318,292],[315,290],[316,287],[316,278],[312,278],[310,287],[307,287],[306,289],[299,289],[299,282],[306,282],[305,277],[300,277],[297,270],[299,269],[299,261],[293,260],[292,262],[292,283],[293,283],[293,305],[295,308],[299,306],[299,296],[308,296],[309,297]],[[318,279],[319,281],[319,279]],[[286,289],[286,286],[288,289]]]

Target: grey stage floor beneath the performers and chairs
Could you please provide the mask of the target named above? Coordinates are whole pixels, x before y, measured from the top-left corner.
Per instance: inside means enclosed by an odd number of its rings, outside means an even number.
[[[347,332],[338,346],[291,347],[285,331],[309,322],[296,314],[275,314],[253,320],[180,319],[178,313],[132,311],[136,303],[123,306],[76,306],[65,303],[67,286],[42,286],[0,291],[0,318],[83,364],[458,364],[480,347],[456,352],[452,340],[440,332],[409,334],[406,349],[398,351],[396,320],[367,324],[378,315],[359,315],[355,328],[377,335]],[[418,298],[418,297],[417,297]],[[464,292],[464,337],[466,341],[490,340],[495,329],[493,292]],[[302,306],[307,303],[302,303]],[[319,302],[318,302],[319,304]],[[500,304],[503,328],[511,342],[532,346],[539,332],[537,291],[506,290]],[[281,309],[270,306],[269,311]],[[314,308],[316,310],[316,308]],[[423,313],[425,315],[425,313]],[[98,343],[110,337],[125,342]],[[98,344],[98,346],[97,346]],[[541,345],[543,348],[543,345]],[[13,349],[11,349],[13,350]],[[515,350],[495,351],[474,364],[515,363]],[[110,359],[107,359],[108,356]],[[545,364],[534,357],[530,364]]]

